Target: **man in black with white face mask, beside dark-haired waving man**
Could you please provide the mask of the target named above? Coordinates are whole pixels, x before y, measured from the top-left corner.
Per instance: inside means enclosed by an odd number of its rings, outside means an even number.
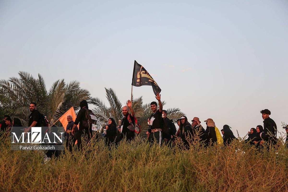
[[[164,119],[164,127],[162,129],[162,134],[164,138],[164,143],[171,145],[172,136],[176,133],[176,127],[172,125],[173,122],[167,117],[167,111],[162,111],[162,118]]]

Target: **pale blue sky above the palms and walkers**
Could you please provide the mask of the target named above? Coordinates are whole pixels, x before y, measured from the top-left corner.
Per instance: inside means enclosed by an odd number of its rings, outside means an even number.
[[[270,109],[288,123],[288,1],[0,1],[1,79],[78,80],[92,96],[130,98],[134,60],[165,108],[240,136]],[[150,86],[135,97],[154,101]]]

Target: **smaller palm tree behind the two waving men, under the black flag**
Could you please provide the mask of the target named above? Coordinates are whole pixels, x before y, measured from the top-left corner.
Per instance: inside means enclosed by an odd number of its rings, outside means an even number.
[[[92,109],[93,113],[97,117],[97,126],[104,126],[109,118],[115,119],[116,123],[118,120],[123,119],[122,114],[122,107],[124,105],[120,102],[118,99],[115,91],[112,88],[105,88],[106,91],[106,98],[109,102],[109,107],[105,105],[105,103],[100,98],[91,98],[90,104],[95,105],[95,107]],[[165,101],[162,102],[162,105],[164,106],[166,104]],[[159,105],[158,105],[159,106]],[[143,97],[139,97],[137,99],[134,99],[132,97],[132,108],[135,112],[135,117],[137,118],[138,122],[141,125],[141,137],[145,137],[146,131],[148,130],[149,126],[147,124],[147,119],[150,117],[152,110],[150,108],[150,104],[143,104]],[[169,119],[172,119],[174,122],[176,119],[181,117],[182,115],[185,115],[180,111],[179,108],[172,108],[167,109],[167,117]]]

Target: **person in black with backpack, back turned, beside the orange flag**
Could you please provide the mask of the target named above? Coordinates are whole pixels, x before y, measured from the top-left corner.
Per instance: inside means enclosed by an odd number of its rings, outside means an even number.
[[[75,119],[73,128],[72,128],[72,135],[77,138],[77,147],[78,149],[82,149],[82,136],[84,140],[89,143],[92,137],[92,127],[85,127],[84,121],[86,120],[86,111],[88,109],[88,102],[86,100],[82,100],[80,102],[80,110],[77,114]],[[80,123],[80,124],[79,124]],[[76,126],[79,124],[79,131],[77,131]]]

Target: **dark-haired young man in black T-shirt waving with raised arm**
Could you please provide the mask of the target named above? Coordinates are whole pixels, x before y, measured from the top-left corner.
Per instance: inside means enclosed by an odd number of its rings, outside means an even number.
[[[153,113],[150,116],[150,126],[151,129],[148,129],[149,142],[157,142],[159,146],[162,144],[162,128],[164,127],[164,121],[162,121],[162,111],[163,106],[161,102],[161,95],[157,93],[157,96],[155,97],[159,102],[159,109],[157,110],[157,103],[155,101],[151,102],[151,110]]]

